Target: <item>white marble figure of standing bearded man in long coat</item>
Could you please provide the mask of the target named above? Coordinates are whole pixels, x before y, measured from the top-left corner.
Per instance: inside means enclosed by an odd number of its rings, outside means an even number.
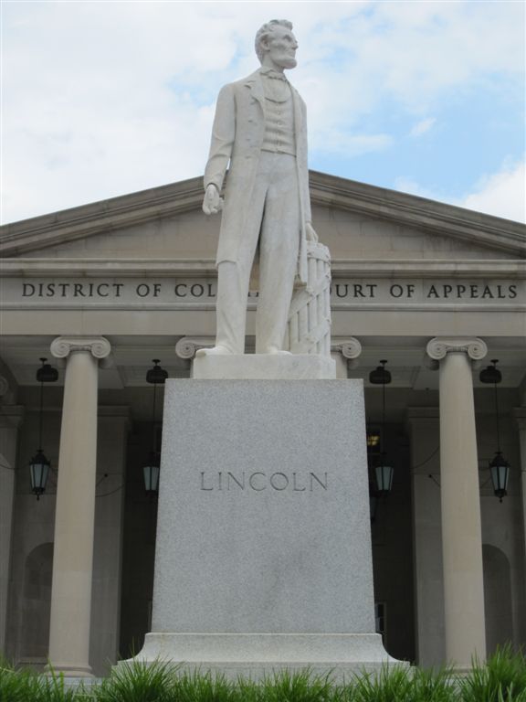
[[[217,249],[216,346],[202,354],[243,354],[250,271],[259,252],[256,353],[283,351],[295,276],[307,278],[310,225],[305,103],[285,77],[298,42],[287,20],[258,30],[261,68],[217,98],[203,210],[223,209]],[[220,197],[226,168],[225,201]]]

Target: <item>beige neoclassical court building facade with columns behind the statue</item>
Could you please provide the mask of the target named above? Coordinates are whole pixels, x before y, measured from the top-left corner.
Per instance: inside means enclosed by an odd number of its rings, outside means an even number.
[[[331,355],[339,378],[363,379],[384,645],[421,665],[523,645],[525,228],[315,172],[310,192],[331,250]],[[143,468],[163,385],[146,376],[159,359],[191,378],[213,343],[219,220],[201,200],[195,178],[2,228],[0,650],[17,664],[103,675],[149,631],[156,500]],[[385,386],[370,375],[382,361]],[[37,379],[43,364],[56,380]],[[499,383],[480,379],[491,365]],[[37,499],[38,450],[50,470]]]

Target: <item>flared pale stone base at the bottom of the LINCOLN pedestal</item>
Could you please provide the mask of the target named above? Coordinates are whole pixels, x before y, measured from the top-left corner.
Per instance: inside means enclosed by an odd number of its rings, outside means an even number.
[[[342,680],[358,671],[406,665],[386,653],[378,633],[147,633],[142,651],[119,665],[156,660],[231,680],[307,668]]]

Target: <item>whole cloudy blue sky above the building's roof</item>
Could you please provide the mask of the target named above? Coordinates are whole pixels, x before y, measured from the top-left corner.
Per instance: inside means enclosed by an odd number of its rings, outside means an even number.
[[[285,17],[310,168],[524,221],[525,4],[2,2],[2,221],[199,176]]]

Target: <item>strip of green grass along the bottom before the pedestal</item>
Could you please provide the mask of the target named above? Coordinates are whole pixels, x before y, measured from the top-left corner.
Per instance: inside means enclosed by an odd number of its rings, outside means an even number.
[[[37,675],[0,661],[0,702],[526,702],[526,657],[505,646],[467,675],[385,666],[336,683],[331,674],[280,671],[258,682],[187,673],[156,661],[122,663],[93,686],[68,687],[62,675]]]

